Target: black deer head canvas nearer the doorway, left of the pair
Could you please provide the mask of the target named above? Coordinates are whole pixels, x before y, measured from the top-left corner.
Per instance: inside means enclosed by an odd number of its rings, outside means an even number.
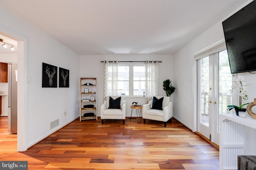
[[[42,87],[57,87],[58,67],[42,64]]]

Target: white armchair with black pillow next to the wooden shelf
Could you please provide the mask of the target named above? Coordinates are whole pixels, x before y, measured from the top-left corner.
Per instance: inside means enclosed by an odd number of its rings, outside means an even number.
[[[101,123],[104,123],[104,119],[122,119],[124,124],[125,112],[126,101],[123,96],[107,96],[104,103],[100,106]]]

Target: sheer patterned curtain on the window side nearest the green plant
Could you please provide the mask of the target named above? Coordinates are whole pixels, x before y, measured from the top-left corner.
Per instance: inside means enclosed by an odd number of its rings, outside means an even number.
[[[158,96],[158,61],[145,62],[146,104]]]

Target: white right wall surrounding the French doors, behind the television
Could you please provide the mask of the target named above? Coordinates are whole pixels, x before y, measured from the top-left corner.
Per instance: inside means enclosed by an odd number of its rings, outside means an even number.
[[[248,3],[246,3],[248,4]],[[245,6],[245,4],[243,5]],[[240,7],[241,9],[242,7]],[[238,10],[238,9],[237,9]],[[237,11],[236,10],[236,11]],[[235,12],[235,11],[234,11]],[[232,14],[234,14],[234,12]],[[229,16],[231,16],[230,14]],[[227,16],[226,18],[228,18]],[[224,18],[222,21],[224,21]],[[219,21],[210,29],[202,33],[192,42],[188,43],[174,54],[174,80],[176,95],[174,96],[174,117],[181,123],[193,130],[194,125],[194,53],[224,39],[222,21]],[[256,98],[256,74],[240,73],[245,77],[245,81],[251,86],[248,88],[249,102]],[[191,85],[188,82],[191,81]],[[230,87],[231,89],[231,87]],[[194,127],[196,128],[196,127]]]

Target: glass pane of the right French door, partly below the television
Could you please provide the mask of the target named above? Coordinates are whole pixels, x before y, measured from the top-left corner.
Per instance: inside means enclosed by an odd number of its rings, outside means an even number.
[[[232,74],[230,71],[227,50],[219,52],[219,110],[218,113],[228,113],[227,106],[232,104],[230,94],[232,86]],[[218,116],[219,116],[218,114]],[[219,117],[218,117],[219,120]],[[219,132],[219,121],[218,121]]]

